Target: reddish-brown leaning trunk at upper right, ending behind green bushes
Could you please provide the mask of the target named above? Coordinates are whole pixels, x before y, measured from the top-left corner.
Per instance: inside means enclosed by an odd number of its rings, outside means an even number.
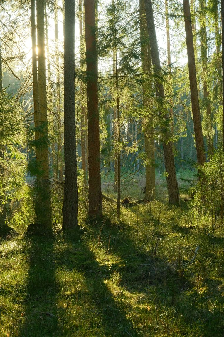
[[[198,164],[202,165],[206,161],[206,157],[204,153],[204,141],[202,135],[200,108],[197,91],[197,77],[196,77],[196,67],[194,58],[194,44],[193,44],[189,0],[183,0],[183,7],[184,7],[184,23],[186,32],[187,58],[188,58],[189,82],[191,93],[191,108],[194,122],[197,162]]]

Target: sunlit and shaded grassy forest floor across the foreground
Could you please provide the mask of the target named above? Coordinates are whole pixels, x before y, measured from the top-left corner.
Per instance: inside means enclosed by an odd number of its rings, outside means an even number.
[[[77,233],[0,242],[1,336],[223,336],[219,219],[155,201],[117,224],[104,209]]]

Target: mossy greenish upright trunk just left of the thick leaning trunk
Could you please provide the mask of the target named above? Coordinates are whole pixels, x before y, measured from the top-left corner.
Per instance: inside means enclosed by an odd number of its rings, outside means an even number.
[[[150,100],[146,96],[146,88],[152,91],[151,76],[151,51],[149,44],[149,37],[147,33],[147,22],[145,19],[145,4],[144,0],[139,1],[139,14],[140,14],[140,42],[141,42],[141,63],[142,71],[145,76],[145,83],[142,87],[142,105],[143,109],[147,111],[144,117],[144,142],[146,153],[145,165],[145,199],[152,201],[155,199],[155,149],[154,137],[152,128],[152,117],[149,113]]]

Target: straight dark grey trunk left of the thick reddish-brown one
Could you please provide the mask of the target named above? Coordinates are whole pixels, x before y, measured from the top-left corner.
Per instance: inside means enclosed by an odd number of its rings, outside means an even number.
[[[78,226],[78,189],[75,139],[75,0],[65,0],[64,35],[64,150],[65,185],[62,229]]]

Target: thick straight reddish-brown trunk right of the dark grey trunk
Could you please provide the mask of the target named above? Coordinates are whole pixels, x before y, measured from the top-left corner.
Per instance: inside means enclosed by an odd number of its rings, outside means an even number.
[[[102,216],[98,72],[94,0],[84,0],[88,108],[89,216]]]

